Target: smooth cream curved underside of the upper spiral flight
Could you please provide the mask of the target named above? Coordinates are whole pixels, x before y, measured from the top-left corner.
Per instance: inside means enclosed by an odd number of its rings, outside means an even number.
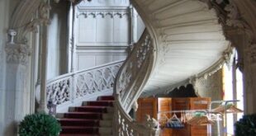
[[[133,0],[151,35],[157,39],[157,61],[145,94],[166,91],[211,73],[224,62],[225,40],[213,9],[199,0]],[[150,31],[149,30],[149,31]]]

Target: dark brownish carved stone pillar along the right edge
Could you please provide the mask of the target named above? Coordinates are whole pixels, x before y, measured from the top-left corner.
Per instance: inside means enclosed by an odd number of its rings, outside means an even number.
[[[239,30],[239,33],[233,33],[231,41],[238,49],[239,60],[242,62],[244,113],[256,113],[256,2],[232,0],[227,10],[230,12],[227,22]]]

